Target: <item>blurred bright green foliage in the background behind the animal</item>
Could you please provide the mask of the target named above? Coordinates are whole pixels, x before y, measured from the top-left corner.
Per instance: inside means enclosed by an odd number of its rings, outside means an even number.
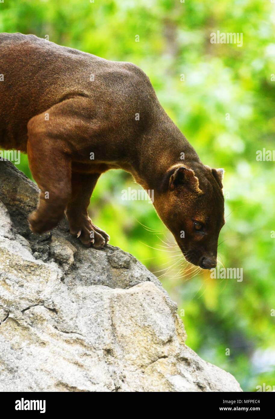
[[[275,4],[260,0],[0,3],[1,32],[49,35],[58,44],[139,65],[203,163],[225,168],[226,225],[218,253],[221,265],[243,268],[242,282],[183,271],[177,248],[161,241],[172,237],[152,205],[121,199],[122,189],[136,187],[127,173],[100,178],[90,214],[111,244],[160,271],[179,313],[184,309],[187,344],[234,374],[245,391],[275,384],[275,163],[256,161],[257,150],[275,148],[274,26]],[[243,46],[211,44],[217,30],[242,32]],[[26,158],[20,168],[31,176]]]

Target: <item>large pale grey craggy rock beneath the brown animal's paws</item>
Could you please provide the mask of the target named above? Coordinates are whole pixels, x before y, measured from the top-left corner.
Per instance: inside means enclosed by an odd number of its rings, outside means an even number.
[[[34,235],[37,187],[0,162],[3,391],[242,391],[185,345],[177,306],[129,253]]]

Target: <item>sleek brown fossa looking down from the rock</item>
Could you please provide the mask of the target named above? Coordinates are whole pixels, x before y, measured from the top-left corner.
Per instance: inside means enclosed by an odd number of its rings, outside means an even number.
[[[157,213],[186,259],[216,265],[222,171],[200,162],[139,67],[33,35],[0,34],[0,73],[0,146],[28,153],[41,189],[29,218],[33,232],[54,228],[65,211],[82,243],[104,246],[109,237],[93,225],[87,207],[100,174],[122,168],[154,190]],[[194,230],[195,221],[203,231]]]

